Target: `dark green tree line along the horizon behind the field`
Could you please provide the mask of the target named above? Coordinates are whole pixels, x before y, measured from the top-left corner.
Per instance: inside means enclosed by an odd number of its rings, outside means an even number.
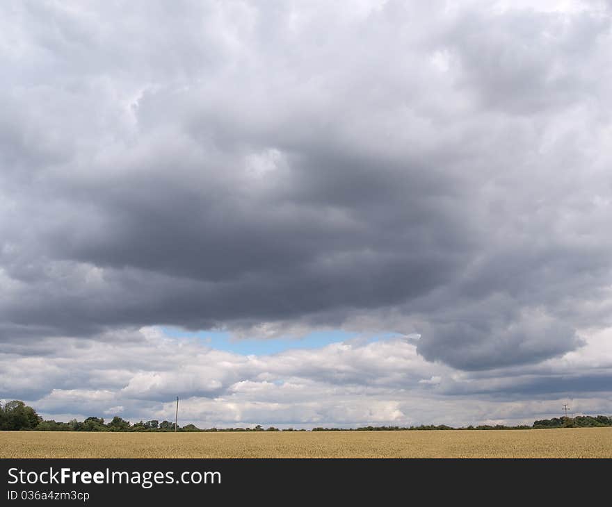
[[[519,426],[505,426],[485,424],[479,426],[463,426],[453,428],[440,424],[439,426],[362,426],[361,428],[323,428],[316,427],[312,431],[419,431],[419,430],[472,430],[472,429],[548,429],[548,428],[586,428],[612,426],[612,417],[606,415],[577,415],[576,417],[553,417],[552,419],[540,419],[534,421],[531,426],[523,424]],[[87,417],[84,421],[72,419],[70,422],[46,421],[23,401],[8,401],[4,406],[0,404],[0,430],[1,431],[175,431],[175,423],[152,419],[147,422],[139,421],[131,424],[129,421],[115,415],[109,422],[104,422],[102,417]],[[208,428],[200,429],[193,424],[177,426],[176,431],[306,431],[305,429],[278,429],[274,426],[264,428],[260,424],[253,428]]]

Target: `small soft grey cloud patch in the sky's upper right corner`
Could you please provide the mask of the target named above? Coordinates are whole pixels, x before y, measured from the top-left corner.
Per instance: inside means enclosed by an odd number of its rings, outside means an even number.
[[[597,96],[599,76],[584,56],[602,53],[609,31],[609,16],[590,12],[469,13],[451,31],[449,47],[465,85],[486,106],[533,115]]]

